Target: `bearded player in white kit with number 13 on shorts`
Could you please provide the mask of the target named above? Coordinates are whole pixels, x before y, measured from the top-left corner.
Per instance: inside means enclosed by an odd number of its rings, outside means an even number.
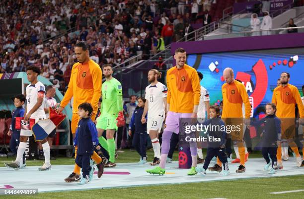
[[[157,165],[160,162],[160,144],[158,133],[161,130],[167,107],[167,87],[157,81],[159,72],[151,69],[148,73],[148,81],[151,83],[146,87],[146,103],[142,116],[142,123],[146,123],[146,114],[148,112],[147,132],[150,135],[154,159],[151,165]]]

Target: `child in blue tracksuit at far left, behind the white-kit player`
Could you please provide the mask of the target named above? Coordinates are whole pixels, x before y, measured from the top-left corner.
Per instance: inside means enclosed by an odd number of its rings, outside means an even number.
[[[14,155],[17,155],[17,149],[20,142],[20,130],[15,129],[16,125],[16,117],[24,117],[24,108],[22,107],[25,101],[25,96],[22,94],[16,95],[14,97],[14,105],[16,109],[12,113],[11,117],[11,125],[9,127],[9,131],[7,132],[10,135],[9,148]],[[25,156],[23,154],[23,158],[21,159],[21,164],[25,163]]]

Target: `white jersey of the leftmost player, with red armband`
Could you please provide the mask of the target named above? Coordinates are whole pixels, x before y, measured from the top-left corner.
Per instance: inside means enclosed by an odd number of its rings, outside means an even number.
[[[44,85],[38,81],[34,85],[27,85],[26,86],[26,114],[35,106],[37,103],[37,98],[42,97],[44,98],[45,94],[45,87]],[[42,105],[31,115],[31,118],[33,119],[45,119],[45,113],[44,113],[44,104]]]

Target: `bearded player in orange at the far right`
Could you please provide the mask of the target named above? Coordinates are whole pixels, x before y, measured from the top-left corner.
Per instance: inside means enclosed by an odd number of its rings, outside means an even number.
[[[281,85],[276,87],[272,95],[272,103],[277,106],[276,116],[281,119],[282,139],[288,142],[291,149],[296,154],[297,167],[302,165],[301,155],[298,146],[294,140],[296,135],[295,129],[295,108],[298,105],[300,121],[304,122],[304,106],[302,104],[301,95],[298,88],[289,84],[290,74],[282,72],[280,76]],[[277,169],[283,169],[282,164],[282,148],[281,144],[277,151]]]

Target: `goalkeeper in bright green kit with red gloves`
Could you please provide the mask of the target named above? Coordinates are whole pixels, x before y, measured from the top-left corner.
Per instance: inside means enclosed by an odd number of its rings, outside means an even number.
[[[113,69],[111,65],[103,66],[102,73],[106,78],[103,82],[102,102],[100,117],[97,118],[96,128],[98,131],[99,143],[105,148],[110,156],[106,167],[115,167],[115,140],[114,133],[118,127],[125,125],[123,114],[122,87],[120,82],[112,77]],[[106,131],[105,139],[102,133]]]

